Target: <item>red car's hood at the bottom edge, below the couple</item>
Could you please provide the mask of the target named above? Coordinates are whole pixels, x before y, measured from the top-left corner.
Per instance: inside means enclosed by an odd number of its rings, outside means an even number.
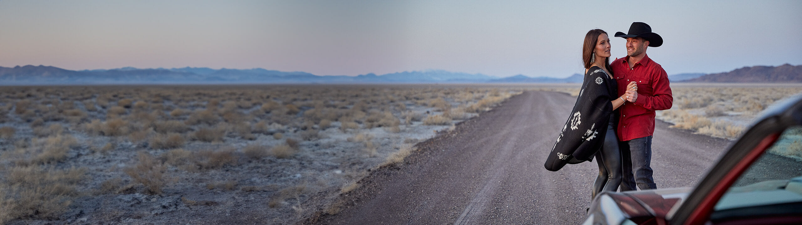
[[[691,187],[655,189],[648,191],[602,192],[593,200],[588,213],[590,224],[621,224],[630,219],[635,223],[650,219],[670,219]],[[601,222],[601,223],[598,223]]]

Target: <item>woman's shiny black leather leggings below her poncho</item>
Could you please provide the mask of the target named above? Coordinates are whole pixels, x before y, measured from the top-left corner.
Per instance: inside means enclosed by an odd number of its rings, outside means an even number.
[[[621,184],[621,150],[618,148],[618,135],[615,134],[615,121],[610,116],[610,125],[607,127],[602,151],[596,154],[596,163],[599,165],[599,175],[593,183],[591,199],[602,191],[618,191]]]

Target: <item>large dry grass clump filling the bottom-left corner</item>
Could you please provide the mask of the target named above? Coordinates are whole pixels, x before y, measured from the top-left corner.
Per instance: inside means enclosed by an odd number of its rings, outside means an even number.
[[[0,224],[11,219],[57,219],[79,195],[76,186],[86,169],[12,167],[0,183]]]

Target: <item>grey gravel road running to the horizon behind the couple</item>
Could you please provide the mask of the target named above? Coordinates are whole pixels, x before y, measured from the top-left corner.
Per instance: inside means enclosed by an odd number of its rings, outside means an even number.
[[[597,164],[546,171],[545,157],[576,98],[529,91],[455,131],[419,144],[405,163],[372,171],[314,224],[577,224]],[[659,188],[694,185],[730,144],[658,121],[652,164]]]

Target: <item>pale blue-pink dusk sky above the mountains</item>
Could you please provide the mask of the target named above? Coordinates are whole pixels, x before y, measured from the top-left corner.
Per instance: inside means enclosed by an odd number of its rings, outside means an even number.
[[[581,72],[582,39],[646,22],[668,74],[802,64],[802,1],[0,1],[0,66],[318,75]],[[613,58],[626,54],[612,40]]]

